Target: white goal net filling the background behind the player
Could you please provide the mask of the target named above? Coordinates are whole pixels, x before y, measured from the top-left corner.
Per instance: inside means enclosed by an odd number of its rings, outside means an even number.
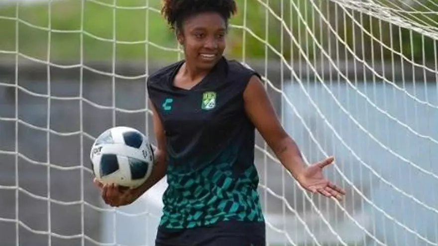
[[[438,2],[236,0],[226,56],[257,70],[341,202],[302,190],[257,133],[270,246],[438,245]],[[183,58],[159,0],[0,3],[0,242],[154,245],[165,179],[110,208],[90,147],[125,125],[155,143],[145,82]]]

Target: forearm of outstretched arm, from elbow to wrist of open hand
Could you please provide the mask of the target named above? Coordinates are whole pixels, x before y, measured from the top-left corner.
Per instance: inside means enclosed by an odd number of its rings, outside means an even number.
[[[300,179],[300,174],[306,167],[300,149],[295,141],[287,136],[273,148],[275,155],[283,166],[294,176]]]

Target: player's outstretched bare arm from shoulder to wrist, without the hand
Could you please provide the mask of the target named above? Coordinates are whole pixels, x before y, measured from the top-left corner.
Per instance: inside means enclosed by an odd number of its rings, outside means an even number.
[[[306,167],[295,141],[286,133],[277,119],[268,95],[256,76],[251,77],[243,92],[245,110],[266,143],[284,167],[300,180]]]

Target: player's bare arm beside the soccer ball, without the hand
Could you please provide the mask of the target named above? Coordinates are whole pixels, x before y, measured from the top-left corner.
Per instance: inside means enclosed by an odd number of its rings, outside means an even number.
[[[143,194],[152,186],[154,186],[156,183],[158,183],[158,181],[160,181],[166,175],[166,168],[167,168],[166,139],[164,135],[164,127],[160,120],[160,117],[158,117],[157,111],[153,106],[153,103],[150,102],[150,105],[152,105],[153,125],[154,125],[155,138],[157,139],[157,149],[155,150],[154,153],[155,164],[154,164],[154,168],[152,169],[151,175],[146,180],[146,182],[144,182],[142,185],[140,185],[137,188],[138,192],[140,192],[139,195]]]

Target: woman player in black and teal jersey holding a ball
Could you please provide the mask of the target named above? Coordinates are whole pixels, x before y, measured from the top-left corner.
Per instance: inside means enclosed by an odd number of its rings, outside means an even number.
[[[157,139],[156,165],[139,188],[98,184],[111,206],[135,201],[164,175],[163,215],[156,246],[264,246],[257,193],[257,129],[305,189],[341,199],[323,176],[329,157],[307,166],[279,123],[260,76],[223,55],[234,0],[164,0],[162,13],[185,59],[147,81]]]

